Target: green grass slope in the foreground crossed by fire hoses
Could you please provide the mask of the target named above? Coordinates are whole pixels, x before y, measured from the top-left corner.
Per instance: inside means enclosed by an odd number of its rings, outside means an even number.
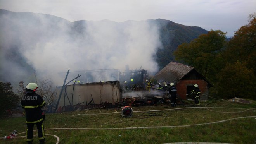
[[[118,113],[111,113],[115,112],[114,108],[47,114],[46,120],[44,121],[45,134],[57,135],[60,138],[59,144],[160,144],[171,142],[256,143],[256,118],[239,118],[221,123],[196,125],[227,120],[230,118],[256,116],[255,101],[251,104],[241,104],[230,101],[201,102],[202,107],[205,105],[216,108],[209,108],[209,110],[207,108],[189,108],[194,105],[187,102],[185,106],[178,105],[176,107],[186,109],[177,110],[170,110],[173,108],[170,106],[166,107],[165,105],[133,107],[134,113],[131,118],[121,117],[121,109],[118,109]],[[86,115],[97,113],[111,114]],[[9,135],[12,130],[17,130],[18,133],[25,132],[26,124],[24,121],[24,116],[1,119],[0,137]],[[192,126],[143,129],[54,129],[125,128],[180,125]],[[34,127],[34,129],[36,129],[36,127]],[[37,131],[35,131],[34,134],[37,134]],[[23,135],[26,134],[19,134],[17,136]],[[46,135],[47,144],[55,144],[56,142],[57,139],[55,137]],[[26,138],[0,139],[0,143],[26,144]],[[37,136],[34,136],[34,143],[38,143]]]

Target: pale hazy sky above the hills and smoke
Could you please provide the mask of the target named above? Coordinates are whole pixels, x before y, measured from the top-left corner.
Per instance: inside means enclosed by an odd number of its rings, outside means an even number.
[[[0,0],[0,9],[50,14],[71,22],[160,18],[233,36],[256,12],[256,0]]]

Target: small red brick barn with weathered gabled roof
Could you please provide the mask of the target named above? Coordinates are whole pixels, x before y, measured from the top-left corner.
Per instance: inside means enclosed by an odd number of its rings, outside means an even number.
[[[177,62],[170,62],[154,76],[154,79],[161,83],[173,82],[177,88],[177,95],[184,100],[191,99],[187,94],[193,90],[195,84],[201,90],[201,100],[208,99],[209,87],[212,87],[212,84],[194,67]]]

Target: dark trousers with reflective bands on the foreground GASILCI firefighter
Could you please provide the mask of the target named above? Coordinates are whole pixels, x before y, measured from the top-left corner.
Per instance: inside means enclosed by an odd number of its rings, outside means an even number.
[[[36,125],[37,131],[38,131],[38,139],[40,144],[43,144],[45,142],[45,129],[43,127],[43,120],[37,123],[27,123],[27,142],[32,143],[33,142],[33,130],[34,125]]]

